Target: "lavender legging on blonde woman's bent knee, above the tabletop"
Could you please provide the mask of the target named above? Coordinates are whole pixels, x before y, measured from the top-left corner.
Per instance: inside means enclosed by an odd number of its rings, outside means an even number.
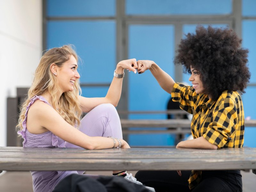
[[[93,108],[81,120],[79,130],[88,136],[116,137],[123,139],[120,118],[112,104],[101,104]],[[65,142],[65,147],[79,147]]]

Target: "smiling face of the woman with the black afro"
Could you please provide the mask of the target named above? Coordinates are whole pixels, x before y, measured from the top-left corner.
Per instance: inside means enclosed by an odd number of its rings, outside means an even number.
[[[204,85],[200,79],[200,72],[190,66],[191,76],[189,77],[189,81],[191,81],[193,88],[195,89],[196,93],[204,93]]]

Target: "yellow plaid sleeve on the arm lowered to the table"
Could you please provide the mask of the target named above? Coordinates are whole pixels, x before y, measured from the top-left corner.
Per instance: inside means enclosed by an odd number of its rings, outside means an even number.
[[[212,114],[212,122],[208,125],[203,137],[210,143],[222,148],[235,135],[238,116],[236,103],[231,98],[225,98],[216,103]]]

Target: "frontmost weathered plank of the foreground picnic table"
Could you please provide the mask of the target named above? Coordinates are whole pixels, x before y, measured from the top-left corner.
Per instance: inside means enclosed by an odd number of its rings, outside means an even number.
[[[255,161],[222,161],[221,159],[13,159],[1,160],[1,170],[215,170],[252,169]]]

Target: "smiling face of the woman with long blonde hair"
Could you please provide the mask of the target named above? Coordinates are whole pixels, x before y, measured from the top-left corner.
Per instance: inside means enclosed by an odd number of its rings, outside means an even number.
[[[70,55],[69,60],[64,62],[61,67],[56,66],[57,79],[62,92],[74,90],[74,84],[80,78],[77,72],[77,62],[73,55]]]

